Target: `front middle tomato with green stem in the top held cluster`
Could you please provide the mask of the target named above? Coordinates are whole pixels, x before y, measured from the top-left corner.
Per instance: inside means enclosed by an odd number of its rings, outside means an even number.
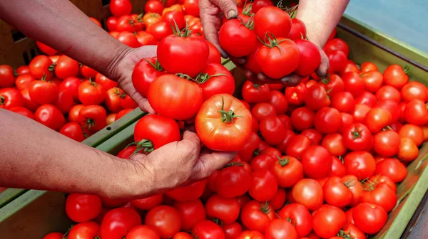
[[[281,11],[280,9],[277,10]],[[290,75],[300,63],[299,48],[294,41],[287,38],[277,38],[277,42],[277,47],[261,46],[255,55],[256,64],[260,70],[272,79]]]

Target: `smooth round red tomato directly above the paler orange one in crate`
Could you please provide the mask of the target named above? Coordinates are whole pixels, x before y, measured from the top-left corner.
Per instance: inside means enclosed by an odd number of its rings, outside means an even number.
[[[312,145],[302,154],[303,172],[311,179],[321,179],[332,169],[332,156],[327,149]]]

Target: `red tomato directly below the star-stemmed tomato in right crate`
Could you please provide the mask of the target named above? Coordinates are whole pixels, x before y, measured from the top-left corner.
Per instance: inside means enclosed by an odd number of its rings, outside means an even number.
[[[372,176],[376,170],[376,162],[369,152],[350,152],[345,156],[344,161],[347,174],[352,174],[358,179],[367,179]]]

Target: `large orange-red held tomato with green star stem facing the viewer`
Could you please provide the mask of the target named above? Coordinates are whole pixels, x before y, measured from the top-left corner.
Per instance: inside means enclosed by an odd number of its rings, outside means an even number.
[[[186,91],[190,90],[187,88]],[[192,100],[195,101],[194,95]],[[195,119],[196,132],[203,144],[220,151],[242,149],[250,137],[251,124],[250,110],[240,100],[227,94],[214,95],[205,100]]]

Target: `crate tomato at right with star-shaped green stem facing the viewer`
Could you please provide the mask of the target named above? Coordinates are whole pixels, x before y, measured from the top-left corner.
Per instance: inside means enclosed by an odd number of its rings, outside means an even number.
[[[351,124],[344,128],[342,139],[348,149],[354,151],[372,149],[373,136],[365,124]]]

